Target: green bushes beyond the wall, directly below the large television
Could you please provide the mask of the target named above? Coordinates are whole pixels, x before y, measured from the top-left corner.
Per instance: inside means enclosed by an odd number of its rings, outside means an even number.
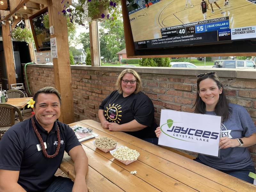
[[[142,58],[139,64],[143,67],[170,67],[170,59],[168,57]]]

